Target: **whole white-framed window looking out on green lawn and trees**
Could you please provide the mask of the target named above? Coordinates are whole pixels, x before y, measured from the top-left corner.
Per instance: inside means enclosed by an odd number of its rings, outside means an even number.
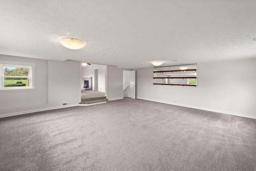
[[[0,89],[34,88],[34,68],[32,63],[0,61]]]

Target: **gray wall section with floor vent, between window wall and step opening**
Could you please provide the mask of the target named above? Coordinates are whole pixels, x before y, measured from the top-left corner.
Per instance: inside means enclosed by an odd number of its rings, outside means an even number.
[[[80,62],[48,61],[48,80],[48,103],[50,106],[59,106],[66,102],[79,103]]]

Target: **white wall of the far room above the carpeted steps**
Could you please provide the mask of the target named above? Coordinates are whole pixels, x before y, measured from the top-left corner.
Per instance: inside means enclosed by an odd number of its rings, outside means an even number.
[[[106,82],[106,66],[104,65],[92,65],[86,66],[81,69],[82,77],[92,77],[92,83],[94,83],[94,69],[98,69],[98,91],[105,92]],[[94,90],[94,84],[92,84]]]

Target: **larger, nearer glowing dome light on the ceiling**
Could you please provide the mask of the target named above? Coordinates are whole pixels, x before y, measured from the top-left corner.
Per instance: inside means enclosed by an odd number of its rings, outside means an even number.
[[[69,49],[81,49],[86,45],[86,42],[76,38],[61,38],[60,43]]]

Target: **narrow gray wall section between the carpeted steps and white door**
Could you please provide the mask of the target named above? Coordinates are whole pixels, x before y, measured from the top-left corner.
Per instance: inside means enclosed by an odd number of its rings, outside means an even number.
[[[106,66],[106,89],[108,100],[123,98],[123,70],[117,66]]]

